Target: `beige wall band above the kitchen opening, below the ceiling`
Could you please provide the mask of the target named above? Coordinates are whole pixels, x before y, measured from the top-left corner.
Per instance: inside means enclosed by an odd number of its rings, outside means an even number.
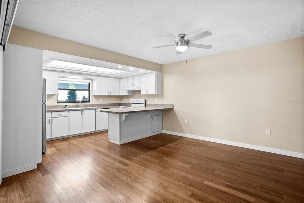
[[[12,26],[9,43],[162,72],[161,64]]]

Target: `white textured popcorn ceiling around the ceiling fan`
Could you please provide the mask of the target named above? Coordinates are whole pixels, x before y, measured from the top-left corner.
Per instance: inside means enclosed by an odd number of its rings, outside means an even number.
[[[21,0],[14,25],[166,64],[304,36],[304,1]],[[150,49],[205,30],[209,50]]]

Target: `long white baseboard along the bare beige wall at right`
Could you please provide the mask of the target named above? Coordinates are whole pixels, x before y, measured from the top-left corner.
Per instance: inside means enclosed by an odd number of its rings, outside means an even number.
[[[275,149],[275,148],[270,148],[270,147],[262,147],[262,146],[253,145],[253,144],[245,144],[245,143],[240,143],[240,142],[220,140],[220,139],[202,137],[202,136],[191,135],[191,134],[177,133],[177,132],[168,131],[168,130],[163,130],[163,133],[177,135],[177,136],[181,136],[181,137],[189,137],[189,138],[204,140],[204,141],[209,141],[209,142],[228,144],[228,145],[243,147],[243,148],[248,148],[248,149],[255,149],[255,150],[259,150],[259,151],[267,151],[267,152],[271,152],[271,153],[275,153],[275,154],[293,156],[293,157],[297,157],[297,158],[304,158],[304,153],[299,153],[299,152],[294,152],[294,151],[287,151],[287,150]]]

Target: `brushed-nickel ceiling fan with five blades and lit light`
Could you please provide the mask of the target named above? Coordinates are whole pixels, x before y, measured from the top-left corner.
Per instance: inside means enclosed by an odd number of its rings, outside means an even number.
[[[174,37],[172,34],[170,33],[163,33],[164,36],[166,37],[169,37],[170,39],[172,39],[173,41],[175,41],[175,48],[176,48],[176,54],[181,54],[182,52],[185,52],[188,47],[196,47],[196,48],[203,48],[203,49],[210,49],[212,48],[213,46],[211,45],[200,45],[200,44],[194,44],[194,43],[191,43],[191,42],[194,42],[196,40],[199,40],[199,39],[202,39],[204,37],[208,37],[211,34],[211,32],[209,31],[205,31],[205,32],[202,32],[200,34],[197,34],[193,37],[190,37],[188,39],[184,39],[185,37],[185,34],[179,34],[178,35],[178,38]],[[151,48],[161,48],[161,47],[170,47],[170,46],[174,46],[174,45],[164,45],[164,46],[158,46],[158,47],[151,47]]]

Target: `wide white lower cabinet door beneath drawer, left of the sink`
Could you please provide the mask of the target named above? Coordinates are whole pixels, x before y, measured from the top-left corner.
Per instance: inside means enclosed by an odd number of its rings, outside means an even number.
[[[51,120],[52,138],[69,135],[69,117],[57,117]]]

